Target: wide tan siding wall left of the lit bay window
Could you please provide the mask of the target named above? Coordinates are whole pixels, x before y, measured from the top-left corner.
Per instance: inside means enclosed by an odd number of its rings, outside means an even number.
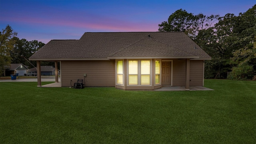
[[[62,86],[73,86],[77,79],[84,80],[84,74],[85,86],[115,86],[115,61],[61,61]]]

